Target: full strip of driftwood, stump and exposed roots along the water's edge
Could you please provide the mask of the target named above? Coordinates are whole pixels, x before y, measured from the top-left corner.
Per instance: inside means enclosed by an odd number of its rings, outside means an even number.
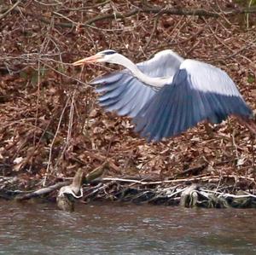
[[[3,188],[0,198],[52,201],[56,197],[57,206],[71,212],[78,202],[90,205],[94,201],[203,208],[256,208],[256,185],[253,178],[234,175],[200,175],[168,180],[100,177],[107,169],[108,164],[105,164],[86,176],[79,170],[72,182],[59,182],[35,191]]]

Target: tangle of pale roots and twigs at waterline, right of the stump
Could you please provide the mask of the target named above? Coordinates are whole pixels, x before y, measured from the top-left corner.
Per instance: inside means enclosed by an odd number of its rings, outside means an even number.
[[[240,181],[247,182],[247,190],[239,187]],[[256,207],[256,194],[252,192],[256,183],[248,177],[207,176],[157,182],[106,177],[94,183],[98,184],[84,188],[83,199],[87,203],[90,200],[117,200],[185,207]],[[188,186],[187,183],[192,184]]]

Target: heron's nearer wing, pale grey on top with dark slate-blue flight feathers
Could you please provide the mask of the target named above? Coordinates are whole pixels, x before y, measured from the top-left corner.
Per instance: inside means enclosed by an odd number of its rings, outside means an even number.
[[[228,74],[201,61],[186,60],[173,78],[133,119],[136,131],[148,140],[175,136],[203,119],[220,123],[228,115],[250,117]]]

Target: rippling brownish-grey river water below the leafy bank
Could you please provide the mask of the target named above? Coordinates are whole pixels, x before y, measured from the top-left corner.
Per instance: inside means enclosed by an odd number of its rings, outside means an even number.
[[[0,254],[256,254],[256,210],[0,200]]]

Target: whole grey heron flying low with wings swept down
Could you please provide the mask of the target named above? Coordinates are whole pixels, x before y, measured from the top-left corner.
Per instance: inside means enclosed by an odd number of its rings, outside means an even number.
[[[148,141],[176,136],[202,120],[219,124],[231,114],[256,133],[253,111],[230,76],[218,67],[185,60],[171,49],[137,64],[107,49],[73,66],[96,62],[125,67],[90,84],[97,85],[102,107],[130,116],[135,130]]]

